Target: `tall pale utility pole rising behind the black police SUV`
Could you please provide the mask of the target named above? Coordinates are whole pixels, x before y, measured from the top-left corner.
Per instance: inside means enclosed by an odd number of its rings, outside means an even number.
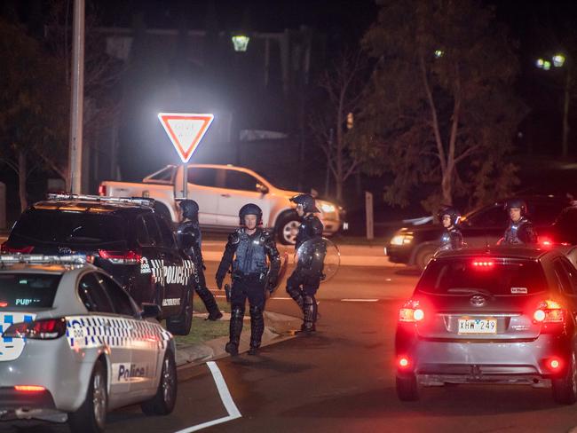
[[[70,97],[70,143],[67,188],[81,193],[84,102],[84,0],[75,0],[72,38],[72,86]]]

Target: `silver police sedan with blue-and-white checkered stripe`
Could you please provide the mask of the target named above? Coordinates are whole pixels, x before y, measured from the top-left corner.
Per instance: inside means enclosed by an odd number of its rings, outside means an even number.
[[[0,256],[0,420],[68,421],[99,432],[107,411],[168,414],[175,342],[85,256]]]

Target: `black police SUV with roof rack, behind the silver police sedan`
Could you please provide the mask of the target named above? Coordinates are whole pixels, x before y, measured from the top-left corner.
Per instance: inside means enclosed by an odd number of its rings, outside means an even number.
[[[86,254],[138,303],[156,303],[168,330],[190,332],[194,263],[151,199],[50,194],[14,224],[2,253]]]

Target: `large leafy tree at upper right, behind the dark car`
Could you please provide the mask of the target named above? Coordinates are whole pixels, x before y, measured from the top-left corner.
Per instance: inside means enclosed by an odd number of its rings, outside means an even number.
[[[512,95],[514,46],[476,0],[384,0],[363,38],[377,59],[358,127],[394,175],[385,200],[407,204],[431,185],[431,209],[459,194],[475,201],[516,182],[507,162],[524,108]]]

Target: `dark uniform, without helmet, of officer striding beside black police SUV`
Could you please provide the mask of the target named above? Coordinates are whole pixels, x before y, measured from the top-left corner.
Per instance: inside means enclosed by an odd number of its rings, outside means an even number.
[[[199,224],[194,221],[185,221],[179,224],[177,239],[179,247],[194,262],[194,268],[196,269],[194,290],[202,299],[207,311],[209,311],[209,320],[222,318],[223,314],[218,309],[217,301],[206,286],[206,279],[204,278],[204,261],[202,260],[201,250],[202,233]]]

